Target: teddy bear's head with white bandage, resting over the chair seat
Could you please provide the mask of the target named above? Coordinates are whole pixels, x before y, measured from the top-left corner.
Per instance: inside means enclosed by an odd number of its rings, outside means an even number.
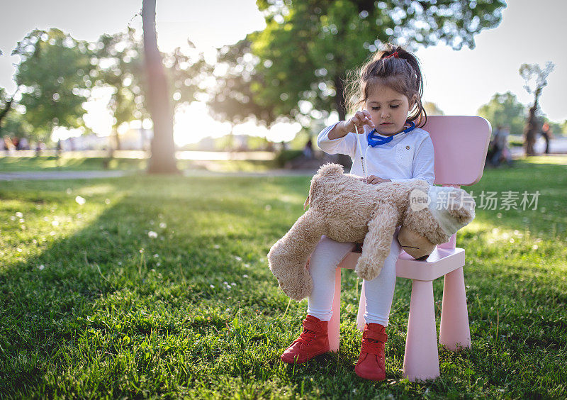
[[[398,242],[417,260],[424,260],[436,245],[473,221],[474,199],[462,189],[430,186],[410,192]]]

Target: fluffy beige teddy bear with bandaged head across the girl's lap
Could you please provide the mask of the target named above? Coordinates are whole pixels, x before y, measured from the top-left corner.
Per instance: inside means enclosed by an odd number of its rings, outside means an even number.
[[[398,241],[403,250],[424,259],[475,216],[474,200],[462,189],[420,179],[366,184],[331,163],[322,165],[311,179],[305,206],[308,211],[268,253],[279,286],[298,301],[313,289],[308,259],[322,235],[362,243],[355,271],[371,280],[380,274],[396,227],[401,226]]]

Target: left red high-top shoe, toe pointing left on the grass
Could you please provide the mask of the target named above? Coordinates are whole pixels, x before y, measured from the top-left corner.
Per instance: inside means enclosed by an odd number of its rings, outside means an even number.
[[[321,321],[308,314],[303,320],[303,333],[291,343],[280,358],[288,364],[301,364],[327,351],[329,351],[327,321]]]

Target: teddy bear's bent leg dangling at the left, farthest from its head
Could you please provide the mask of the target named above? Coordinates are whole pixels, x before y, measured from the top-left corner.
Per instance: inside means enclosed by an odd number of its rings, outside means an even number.
[[[299,301],[309,296],[313,289],[313,281],[305,265],[321,239],[323,224],[318,213],[308,210],[268,253],[271,272],[283,292],[292,299]]]

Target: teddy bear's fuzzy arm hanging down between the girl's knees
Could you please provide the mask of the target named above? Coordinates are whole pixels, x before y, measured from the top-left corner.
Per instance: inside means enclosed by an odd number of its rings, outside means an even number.
[[[368,233],[362,245],[362,254],[354,270],[362,279],[376,278],[390,254],[398,211],[389,204],[381,204],[368,223]]]

